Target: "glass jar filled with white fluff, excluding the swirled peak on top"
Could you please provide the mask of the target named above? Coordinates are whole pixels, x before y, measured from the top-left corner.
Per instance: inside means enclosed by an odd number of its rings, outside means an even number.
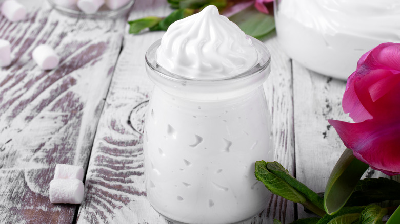
[[[270,193],[254,176],[273,161],[271,118],[263,82],[270,73],[265,44],[252,38],[258,62],[232,78],[187,79],[146,53],[155,84],[144,131],[145,185],[153,208],[181,223],[239,223],[261,212]]]

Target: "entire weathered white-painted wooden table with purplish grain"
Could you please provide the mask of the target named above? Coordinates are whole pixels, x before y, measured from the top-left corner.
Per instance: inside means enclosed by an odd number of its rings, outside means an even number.
[[[136,0],[129,16],[98,20],[64,16],[47,1],[25,3],[27,20],[0,18],[0,38],[11,42],[13,57],[0,70],[0,223],[167,223],[146,198],[142,138],[152,91],[144,54],[164,32],[132,35],[126,23],[168,15],[167,2]],[[264,41],[272,54],[264,87],[275,160],[312,190],[324,191],[344,150],[327,119],[350,121],[341,106],[346,83],[292,61],[275,35]],[[61,56],[57,69],[42,71],[32,61],[41,43]],[[81,205],[50,203],[58,163],[84,167]],[[309,216],[272,196],[248,223]]]

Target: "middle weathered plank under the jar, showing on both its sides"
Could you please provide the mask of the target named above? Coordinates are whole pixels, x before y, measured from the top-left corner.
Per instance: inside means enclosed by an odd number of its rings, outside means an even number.
[[[129,19],[167,15],[166,1],[137,2]],[[164,223],[150,206],[144,186],[142,131],[152,83],[145,71],[147,48],[164,32],[124,35],[124,49],[98,124],[86,175],[85,200],[78,223]],[[290,60],[280,54],[276,38],[266,41],[273,56],[272,72],[265,90],[272,112],[275,154],[290,171],[294,166],[292,76]],[[271,197],[263,213],[248,223],[284,223],[294,220],[294,205]]]

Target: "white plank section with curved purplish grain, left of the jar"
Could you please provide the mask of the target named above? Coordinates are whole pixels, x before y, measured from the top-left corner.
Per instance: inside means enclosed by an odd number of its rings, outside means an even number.
[[[166,1],[137,1],[129,19],[168,15]],[[98,124],[77,223],[162,223],[150,206],[144,186],[144,123],[152,83],[145,53],[164,32],[124,33],[110,91]]]

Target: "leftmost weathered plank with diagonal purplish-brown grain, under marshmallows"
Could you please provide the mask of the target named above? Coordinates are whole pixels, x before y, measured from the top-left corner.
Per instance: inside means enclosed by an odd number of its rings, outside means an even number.
[[[77,206],[51,204],[49,182],[57,163],[87,167],[126,18],[76,19],[22,2],[26,20],[0,17],[13,58],[0,69],[0,223],[70,223]],[[55,70],[31,59],[41,43],[61,57]]]

